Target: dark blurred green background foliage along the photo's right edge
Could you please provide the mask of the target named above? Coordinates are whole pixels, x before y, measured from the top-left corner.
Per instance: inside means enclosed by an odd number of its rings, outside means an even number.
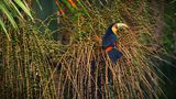
[[[176,44],[176,0],[169,0],[169,2],[165,3],[165,12],[164,12],[164,21],[165,21],[165,30],[163,33],[163,43],[165,50],[168,52],[167,55],[162,55],[162,57],[167,61],[167,63],[161,64],[161,70],[166,75],[163,77],[164,84],[161,84],[163,91],[165,92],[167,99],[176,98],[176,72],[175,64],[176,58],[175,54],[175,44]],[[164,96],[161,96],[160,99],[165,99]]]

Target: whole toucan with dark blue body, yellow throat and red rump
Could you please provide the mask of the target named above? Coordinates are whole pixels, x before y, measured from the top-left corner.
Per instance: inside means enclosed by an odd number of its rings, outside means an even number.
[[[113,23],[107,29],[106,34],[102,36],[102,48],[108,53],[108,56],[113,64],[116,64],[123,55],[117,48],[117,41],[119,38],[118,32],[128,28],[129,26],[124,23]]]

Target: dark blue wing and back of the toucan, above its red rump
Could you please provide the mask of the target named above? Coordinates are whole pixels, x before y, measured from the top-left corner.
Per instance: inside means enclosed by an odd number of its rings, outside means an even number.
[[[102,37],[102,47],[107,47],[107,46],[110,46],[111,44],[113,44],[116,41],[118,40],[117,35],[114,34],[106,34],[103,37]]]

